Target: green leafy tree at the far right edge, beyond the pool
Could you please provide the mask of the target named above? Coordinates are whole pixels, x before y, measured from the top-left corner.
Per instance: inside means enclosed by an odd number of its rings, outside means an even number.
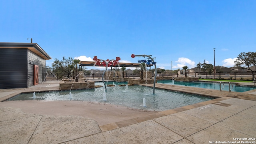
[[[252,80],[254,80],[254,71],[250,67],[256,66],[256,52],[241,52],[235,61],[235,66],[246,66],[246,69],[252,72]]]

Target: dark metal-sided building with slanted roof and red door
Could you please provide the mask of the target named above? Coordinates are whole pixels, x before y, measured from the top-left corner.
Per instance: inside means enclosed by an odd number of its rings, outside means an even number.
[[[36,43],[0,42],[0,89],[42,83],[46,78],[46,60],[50,59]]]

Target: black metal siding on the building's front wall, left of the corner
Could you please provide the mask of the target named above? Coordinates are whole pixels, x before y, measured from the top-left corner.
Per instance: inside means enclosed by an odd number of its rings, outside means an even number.
[[[0,89],[27,88],[27,55],[23,48],[0,48]]]

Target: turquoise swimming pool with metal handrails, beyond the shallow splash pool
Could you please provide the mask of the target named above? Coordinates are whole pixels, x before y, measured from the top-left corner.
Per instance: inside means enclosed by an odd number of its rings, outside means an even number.
[[[202,81],[180,82],[180,81],[175,81],[175,80],[158,80],[157,83],[220,90],[220,82],[202,82]],[[232,83],[232,84],[233,84],[233,89],[231,90],[232,92],[246,92],[248,90],[255,89],[252,87],[235,86],[234,83]],[[224,83],[224,85],[225,85],[225,88],[223,88],[223,90],[228,91],[228,83]],[[223,84],[221,84],[221,88],[222,87],[223,87]],[[231,88],[231,85],[230,85],[230,88]]]

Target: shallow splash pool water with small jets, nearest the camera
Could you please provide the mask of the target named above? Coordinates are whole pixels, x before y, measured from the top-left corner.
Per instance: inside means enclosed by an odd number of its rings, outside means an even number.
[[[72,100],[102,102],[127,106],[129,108],[162,111],[213,99],[205,96],[160,89],[155,89],[155,94],[153,94],[153,89],[150,87],[127,86],[127,82],[108,82],[108,84],[114,84],[115,87],[107,87],[106,101],[103,100],[105,87],[102,82],[95,83],[95,85],[102,85],[103,87],[101,88],[72,90]],[[120,84],[126,84],[126,86],[118,86]],[[69,93],[70,91],[39,92],[39,94],[36,92],[35,99],[48,101],[70,100]],[[143,107],[143,98],[146,99],[146,107]],[[33,94],[20,94],[9,100],[33,100]]]

